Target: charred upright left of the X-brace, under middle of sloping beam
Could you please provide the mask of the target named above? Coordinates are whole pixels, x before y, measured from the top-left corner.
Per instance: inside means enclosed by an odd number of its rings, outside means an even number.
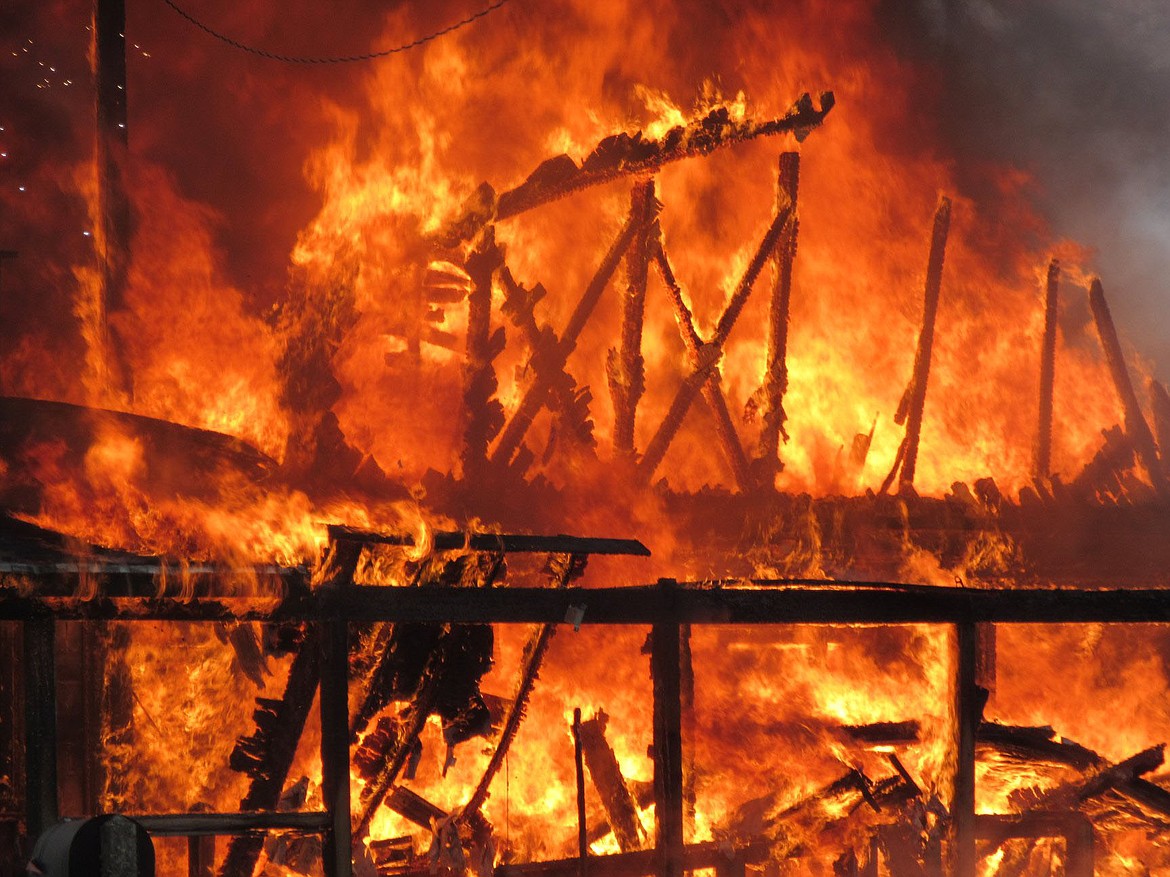
[[[610,396],[613,400],[613,449],[618,456],[634,455],[634,419],[646,392],[642,360],[642,318],[646,311],[646,274],[651,258],[651,227],[661,205],[654,180],[645,180],[631,193],[629,214],[638,216],[638,234],[626,254],[626,292],[621,297],[621,340],[606,358]]]

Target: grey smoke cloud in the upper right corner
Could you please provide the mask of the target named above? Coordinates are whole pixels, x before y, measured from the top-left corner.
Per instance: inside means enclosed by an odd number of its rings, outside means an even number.
[[[1053,232],[1094,249],[1123,334],[1170,375],[1170,5],[885,7],[900,48],[942,71],[941,123],[975,194],[982,160],[1031,173]]]

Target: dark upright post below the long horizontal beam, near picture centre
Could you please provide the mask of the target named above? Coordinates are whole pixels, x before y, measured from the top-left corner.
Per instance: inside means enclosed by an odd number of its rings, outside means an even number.
[[[673,581],[659,586],[669,591]],[[661,621],[651,628],[651,675],[654,683],[654,821],[658,828],[660,877],[682,877],[682,648],[677,621]]]

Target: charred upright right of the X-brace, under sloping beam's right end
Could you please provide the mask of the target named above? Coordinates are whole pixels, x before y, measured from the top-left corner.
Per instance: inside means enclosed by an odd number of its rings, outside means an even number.
[[[800,153],[785,152],[780,154],[780,170],[777,179],[777,209],[784,203],[797,203],[797,189],[800,181]],[[772,486],[776,474],[780,469],[780,436],[787,441],[784,422],[784,394],[789,388],[789,305],[792,299],[792,265],[797,256],[798,220],[796,214],[784,229],[784,235],[772,255],[772,301],[768,312],[768,371],[764,377],[763,424],[756,444],[756,467],[759,481]]]

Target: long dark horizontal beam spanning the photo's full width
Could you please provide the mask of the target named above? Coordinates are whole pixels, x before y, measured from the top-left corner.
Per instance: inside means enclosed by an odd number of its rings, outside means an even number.
[[[353,586],[285,599],[46,599],[0,588],[0,620],[363,621],[572,624],[908,624],[1170,622],[1170,589],[983,589],[757,581],[618,588]]]

